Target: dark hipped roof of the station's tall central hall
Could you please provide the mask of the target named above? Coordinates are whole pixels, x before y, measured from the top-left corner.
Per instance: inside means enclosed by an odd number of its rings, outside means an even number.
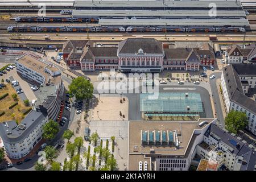
[[[163,44],[156,39],[129,38],[118,45],[119,55],[135,55],[139,49],[148,55],[163,55]]]

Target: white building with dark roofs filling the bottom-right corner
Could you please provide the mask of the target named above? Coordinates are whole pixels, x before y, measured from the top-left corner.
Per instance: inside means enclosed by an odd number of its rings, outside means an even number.
[[[255,169],[255,148],[247,146],[234,135],[211,125],[204,134],[204,140],[196,148],[196,154],[218,164],[230,171],[247,171]]]

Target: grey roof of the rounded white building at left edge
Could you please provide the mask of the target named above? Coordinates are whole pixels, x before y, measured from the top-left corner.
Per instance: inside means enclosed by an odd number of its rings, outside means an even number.
[[[46,119],[46,116],[43,113],[32,110],[21,122],[21,124],[26,126],[24,130],[18,130],[15,121],[0,123],[1,138],[4,142],[7,143],[19,143],[24,140],[31,133],[31,131],[33,131],[35,127],[38,126],[38,124],[44,119]],[[10,131],[11,134],[8,134]]]

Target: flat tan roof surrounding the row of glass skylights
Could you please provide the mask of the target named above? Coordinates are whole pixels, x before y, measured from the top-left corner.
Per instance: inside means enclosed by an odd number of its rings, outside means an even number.
[[[189,144],[193,143],[193,135],[195,130],[202,129],[199,123],[208,121],[211,123],[213,118],[200,118],[198,121],[130,121],[129,122],[129,170],[137,170],[139,160],[144,160],[145,155],[150,155],[150,150],[154,150],[154,155],[168,154],[168,155],[185,155],[189,150]],[[177,135],[180,142],[180,147],[162,146],[162,145],[142,145],[141,130],[176,130],[180,132]],[[134,146],[137,146],[134,150]],[[149,164],[149,163],[148,163]]]

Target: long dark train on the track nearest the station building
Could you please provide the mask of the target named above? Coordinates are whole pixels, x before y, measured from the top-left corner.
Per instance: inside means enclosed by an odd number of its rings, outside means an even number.
[[[9,32],[245,32],[243,27],[172,27],[172,26],[22,26],[8,27]]]

